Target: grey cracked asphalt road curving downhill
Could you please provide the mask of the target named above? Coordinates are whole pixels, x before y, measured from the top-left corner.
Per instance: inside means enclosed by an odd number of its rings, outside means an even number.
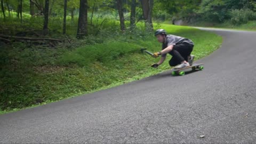
[[[203,71],[0,115],[0,143],[256,143],[256,33],[210,30]]]

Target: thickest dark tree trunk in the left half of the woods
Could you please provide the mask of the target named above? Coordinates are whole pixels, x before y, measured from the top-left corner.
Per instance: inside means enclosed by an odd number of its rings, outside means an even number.
[[[80,0],[77,38],[87,35],[87,0]]]

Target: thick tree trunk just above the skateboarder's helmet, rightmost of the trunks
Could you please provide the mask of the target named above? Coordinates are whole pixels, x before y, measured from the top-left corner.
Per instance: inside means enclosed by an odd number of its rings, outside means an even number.
[[[154,0],[141,0],[143,18],[145,20],[146,29],[153,30],[152,23],[152,10],[153,10]]]

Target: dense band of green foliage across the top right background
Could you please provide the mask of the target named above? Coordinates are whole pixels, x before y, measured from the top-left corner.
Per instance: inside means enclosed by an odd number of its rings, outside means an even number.
[[[185,21],[224,22],[234,23],[255,20],[252,12],[256,11],[253,0],[198,0],[198,1],[154,1],[154,18],[156,20],[183,19]],[[245,12],[242,12],[244,11]],[[170,15],[166,15],[166,13]],[[249,14],[250,16],[247,16]],[[245,18],[243,15],[245,15]],[[249,18],[247,18],[249,17]],[[241,21],[241,22],[239,22]]]

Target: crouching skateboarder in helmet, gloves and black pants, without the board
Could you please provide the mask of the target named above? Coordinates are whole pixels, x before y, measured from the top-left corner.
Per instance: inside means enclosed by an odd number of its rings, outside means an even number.
[[[167,53],[172,55],[169,65],[172,67],[176,66],[174,69],[186,68],[193,65],[195,56],[190,54],[193,51],[194,43],[190,39],[175,35],[166,35],[164,29],[157,29],[155,36],[157,37],[157,41],[162,43],[162,51],[155,52],[153,57],[157,58],[159,55],[162,57],[159,62],[154,63],[151,67],[156,68],[161,65],[165,61]]]

